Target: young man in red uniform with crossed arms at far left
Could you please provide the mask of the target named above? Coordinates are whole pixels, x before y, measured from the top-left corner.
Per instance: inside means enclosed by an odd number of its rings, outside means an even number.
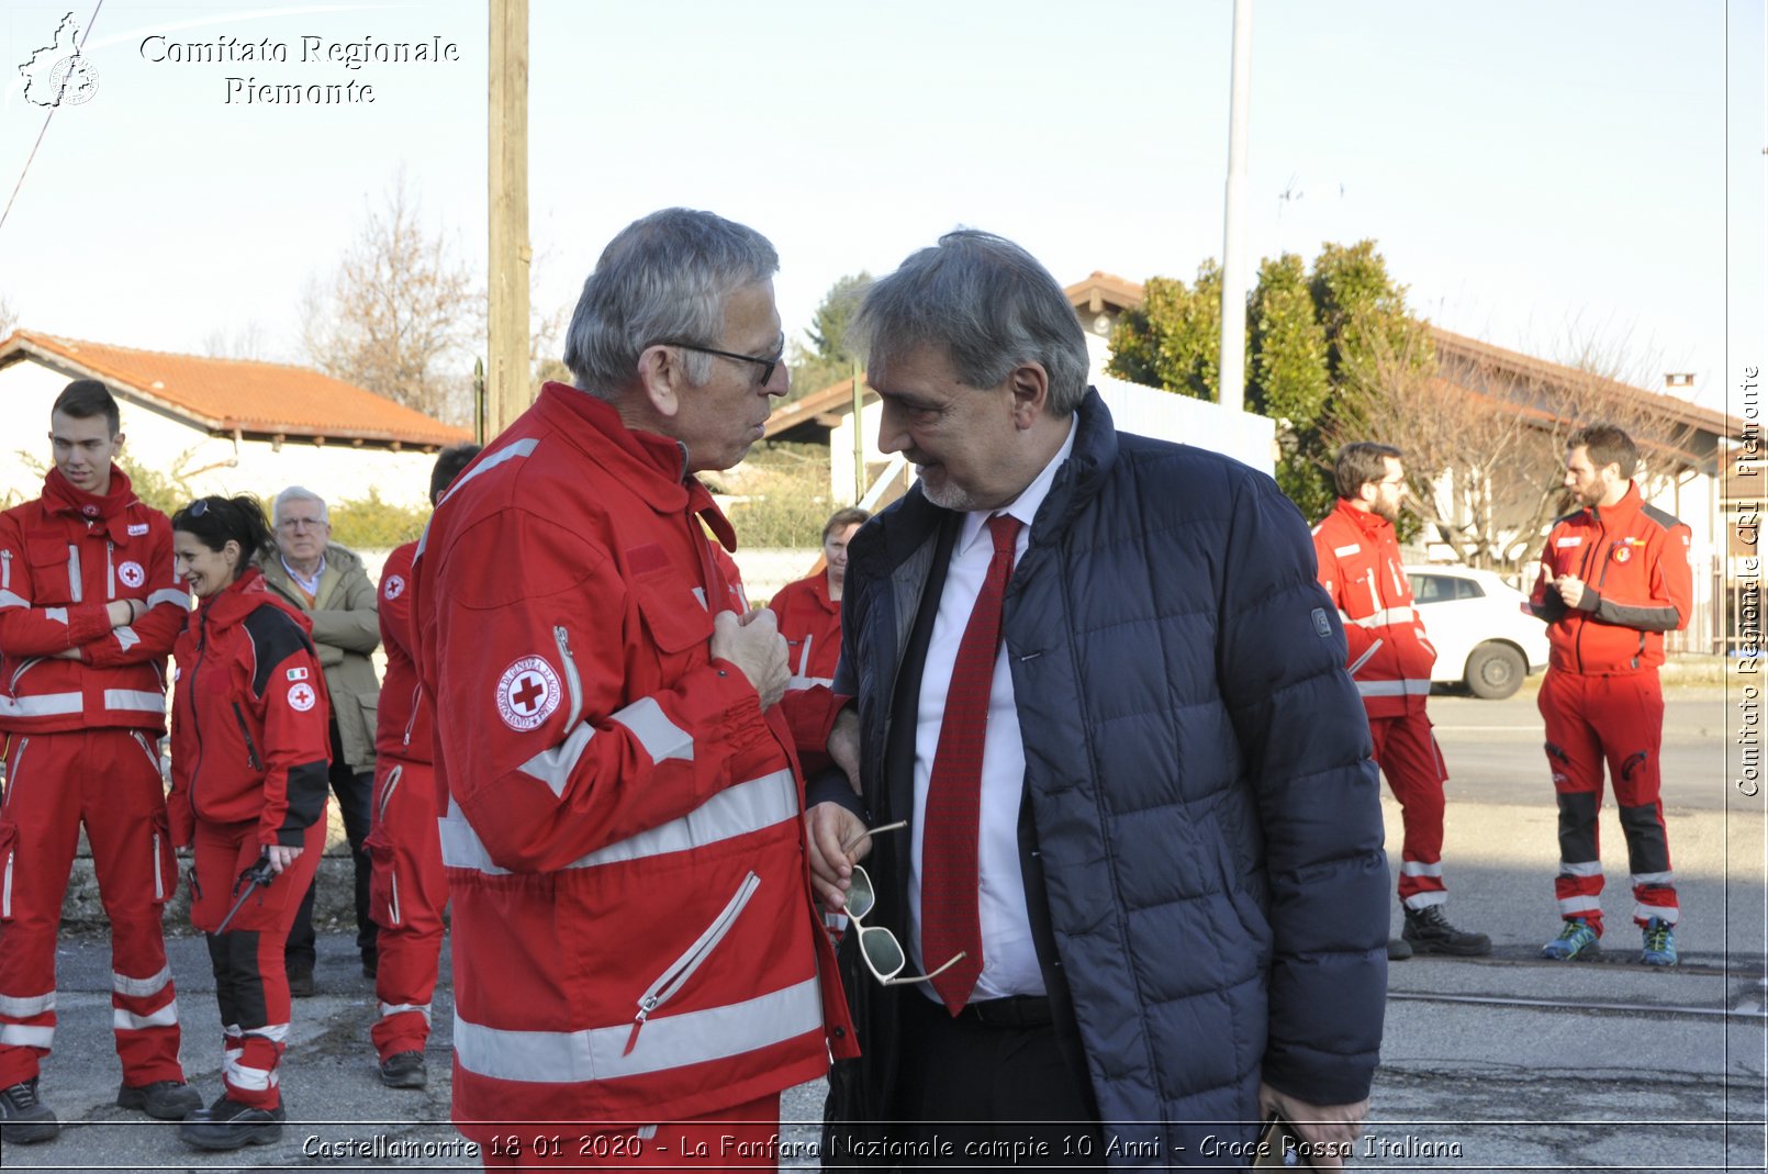
[[[189,592],[171,527],[111,458],[117,401],[76,380],[50,412],[42,497],[0,515],[0,1139],[55,1137],[37,1070],[55,1040],[55,937],[80,826],[111,925],[117,1103],[177,1121],[202,1105],[179,1066],[161,937],[177,888],[159,737],[164,667]]]

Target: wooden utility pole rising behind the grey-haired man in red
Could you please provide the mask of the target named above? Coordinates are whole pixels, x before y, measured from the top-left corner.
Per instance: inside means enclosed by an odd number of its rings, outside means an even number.
[[[529,371],[529,0],[490,0],[490,313],[486,431],[534,401]],[[486,440],[490,440],[486,437]]]

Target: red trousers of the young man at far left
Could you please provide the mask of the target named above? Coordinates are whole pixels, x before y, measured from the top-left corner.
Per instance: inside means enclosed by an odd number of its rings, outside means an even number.
[[[0,1087],[30,1080],[55,1040],[55,939],[80,845],[111,923],[111,1024],[126,1084],[184,1080],[161,907],[179,870],[159,743],[138,730],[12,734],[0,808]]]

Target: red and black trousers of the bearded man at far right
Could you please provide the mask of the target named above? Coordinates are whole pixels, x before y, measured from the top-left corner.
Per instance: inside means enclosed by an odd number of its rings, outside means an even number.
[[[1607,762],[1627,835],[1634,921],[1644,926],[1660,918],[1674,925],[1680,916],[1676,882],[1658,799],[1664,690],[1657,672],[1582,675],[1549,668],[1536,704],[1547,727],[1547,769],[1559,799],[1559,875],[1554,879],[1559,916],[1582,918],[1602,935],[1597,812],[1602,808],[1602,764]]]

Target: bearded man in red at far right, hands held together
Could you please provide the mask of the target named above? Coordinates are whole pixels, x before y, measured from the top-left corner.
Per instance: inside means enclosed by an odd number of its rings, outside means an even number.
[[[1664,741],[1664,633],[1688,622],[1694,578],[1688,527],[1646,506],[1634,484],[1639,449],[1612,424],[1572,433],[1565,488],[1581,509],[1554,523],[1529,596],[1547,621],[1552,654],[1542,681],[1547,769],[1559,797],[1559,875],[1554,895],[1565,925],[1542,948],[1566,962],[1602,937],[1602,856],[1597,810],[1609,766],[1621,810],[1634,886],[1634,923],[1644,934],[1641,962],[1676,965],[1676,880],[1658,748]]]

